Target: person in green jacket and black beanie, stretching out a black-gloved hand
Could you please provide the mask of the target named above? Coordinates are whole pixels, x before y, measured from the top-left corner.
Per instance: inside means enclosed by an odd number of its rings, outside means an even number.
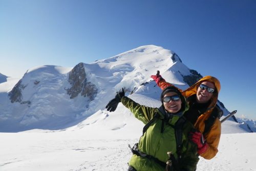
[[[119,102],[145,124],[139,142],[131,148],[133,156],[129,161],[129,171],[196,170],[199,161],[197,146],[188,140],[188,133],[194,130],[194,126],[183,117],[188,106],[177,88],[170,86],[162,91],[159,108],[134,102],[124,96],[122,89],[106,105],[107,110],[115,111]]]

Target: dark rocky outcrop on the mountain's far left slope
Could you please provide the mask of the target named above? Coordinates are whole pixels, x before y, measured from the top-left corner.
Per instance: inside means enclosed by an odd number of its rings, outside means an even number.
[[[26,86],[22,84],[22,80],[19,80],[8,94],[11,103],[22,102],[22,90],[25,87]]]

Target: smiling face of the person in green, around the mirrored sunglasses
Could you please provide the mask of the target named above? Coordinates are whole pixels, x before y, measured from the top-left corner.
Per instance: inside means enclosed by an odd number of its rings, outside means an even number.
[[[163,97],[166,96],[172,96],[172,95],[177,95],[176,92],[168,92],[166,94],[164,94]],[[176,113],[181,109],[181,99],[179,99],[178,101],[169,101],[169,102],[163,102],[163,106],[165,108],[165,110],[167,110],[170,113]]]

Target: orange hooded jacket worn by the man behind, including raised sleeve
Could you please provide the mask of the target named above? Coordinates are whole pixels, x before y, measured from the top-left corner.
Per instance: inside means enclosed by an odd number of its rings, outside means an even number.
[[[182,95],[184,95],[187,98],[191,95],[196,94],[199,85],[204,81],[209,81],[209,82],[214,83],[218,92],[215,92],[214,95],[211,97],[211,103],[208,106],[206,112],[204,112],[203,114],[201,114],[198,117],[198,119],[194,125],[195,128],[198,131],[200,131],[201,133],[204,132],[204,127],[205,127],[204,121],[210,116],[211,111],[214,109],[214,107],[217,103],[218,94],[221,89],[220,82],[215,77],[205,76],[202,79],[200,79],[197,83],[195,83],[191,87],[187,88],[186,90],[179,89],[181,91]],[[164,88],[166,88],[168,86],[174,86],[174,85],[165,82],[165,80],[162,80],[162,81],[158,82],[158,86],[163,90]],[[216,154],[218,153],[218,145],[220,142],[220,137],[221,137],[221,122],[217,118],[215,120],[214,125],[212,125],[210,131],[208,131],[208,133],[204,134],[204,138],[206,139],[206,142],[208,143],[209,148],[207,149],[207,151],[202,153],[200,156],[205,159],[212,159],[213,157],[215,157]]]

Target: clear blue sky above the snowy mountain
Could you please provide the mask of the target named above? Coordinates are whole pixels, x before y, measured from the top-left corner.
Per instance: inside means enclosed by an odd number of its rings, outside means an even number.
[[[0,72],[22,77],[154,44],[217,77],[225,107],[256,119],[255,9],[254,0],[0,0]]]

